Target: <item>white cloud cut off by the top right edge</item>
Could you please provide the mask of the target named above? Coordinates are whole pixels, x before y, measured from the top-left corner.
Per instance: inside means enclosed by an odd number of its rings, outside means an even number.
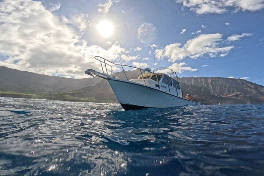
[[[190,10],[197,14],[222,14],[229,10],[254,12],[264,8],[263,0],[177,0],[177,2],[182,3],[184,7],[190,7]]]

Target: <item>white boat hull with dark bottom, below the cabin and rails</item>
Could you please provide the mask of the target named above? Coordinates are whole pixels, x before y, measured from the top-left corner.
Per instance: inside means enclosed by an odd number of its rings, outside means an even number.
[[[200,105],[200,102],[186,100],[143,84],[120,79],[107,79],[107,81],[125,110]]]

